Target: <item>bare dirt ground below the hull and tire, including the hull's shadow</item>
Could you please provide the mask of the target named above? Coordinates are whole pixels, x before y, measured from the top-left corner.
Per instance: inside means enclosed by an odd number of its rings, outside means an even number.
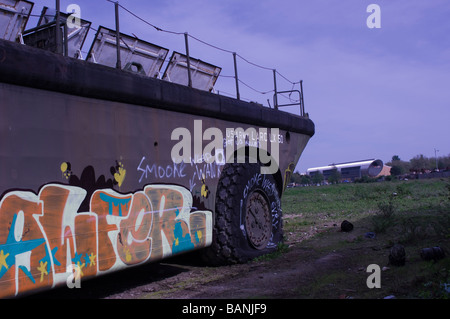
[[[334,231],[334,230],[333,230]],[[287,251],[276,258],[222,267],[197,262],[195,253],[161,263],[131,268],[44,292],[37,299],[292,299],[308,298],[304,290],[330,270],[348,268],[343,253],[318,253],[303,246],[304,239],[320,232],[312,229],[286,242]],[[349,254],[353,252],[349,251]],[[360,271],[360,270],[359,270]],[[332,298],[351,291],[337,290]]]

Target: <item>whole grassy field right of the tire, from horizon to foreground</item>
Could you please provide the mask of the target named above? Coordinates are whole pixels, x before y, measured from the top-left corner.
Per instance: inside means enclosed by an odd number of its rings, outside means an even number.
[[[305,296],[331,297],[330,287],[339,287],[343,298],[450,297],[450,180],[299,187],[282,201],[287,246],[345,256],[345,267],[316,278]],[[352,231],[341,231],[344,220]],[[404,266],[389,263],[396,244],[406,251]],[[423,248],[435,246],[445,258],[421,258]],[[367,288],[370,264],[383,268],[381,289]]]

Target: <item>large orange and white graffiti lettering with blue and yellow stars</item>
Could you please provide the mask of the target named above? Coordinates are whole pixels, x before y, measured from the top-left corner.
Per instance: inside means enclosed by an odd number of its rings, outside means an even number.
[[[86,195],[77,186],[48,184],[38,195],[12,191],[3,197],[0,297],[66,284],[72,266],[88,278],[211,243],[212,213],[192,212],[184,187],[96,190],[89,211],[78,212]]]

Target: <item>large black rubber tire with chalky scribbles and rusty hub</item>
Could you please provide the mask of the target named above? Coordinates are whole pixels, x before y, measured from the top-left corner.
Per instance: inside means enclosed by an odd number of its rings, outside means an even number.
[[[245,263],[273,252],[283,241],[281,201],[272,175],[260,164],[226,164],[216,194],[209,264]]]

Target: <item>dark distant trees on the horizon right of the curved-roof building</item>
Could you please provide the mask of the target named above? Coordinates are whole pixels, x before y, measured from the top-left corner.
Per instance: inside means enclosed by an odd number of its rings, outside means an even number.
[[[409,173],[424,173],[427,171],[449,170],[450,155],[440,157],[426,157],[423,154],[416,155],[409,161],[403,161],[398,155],[392,156],[392,160],[386,165],[391,166],[391,175],[398,176]]]

